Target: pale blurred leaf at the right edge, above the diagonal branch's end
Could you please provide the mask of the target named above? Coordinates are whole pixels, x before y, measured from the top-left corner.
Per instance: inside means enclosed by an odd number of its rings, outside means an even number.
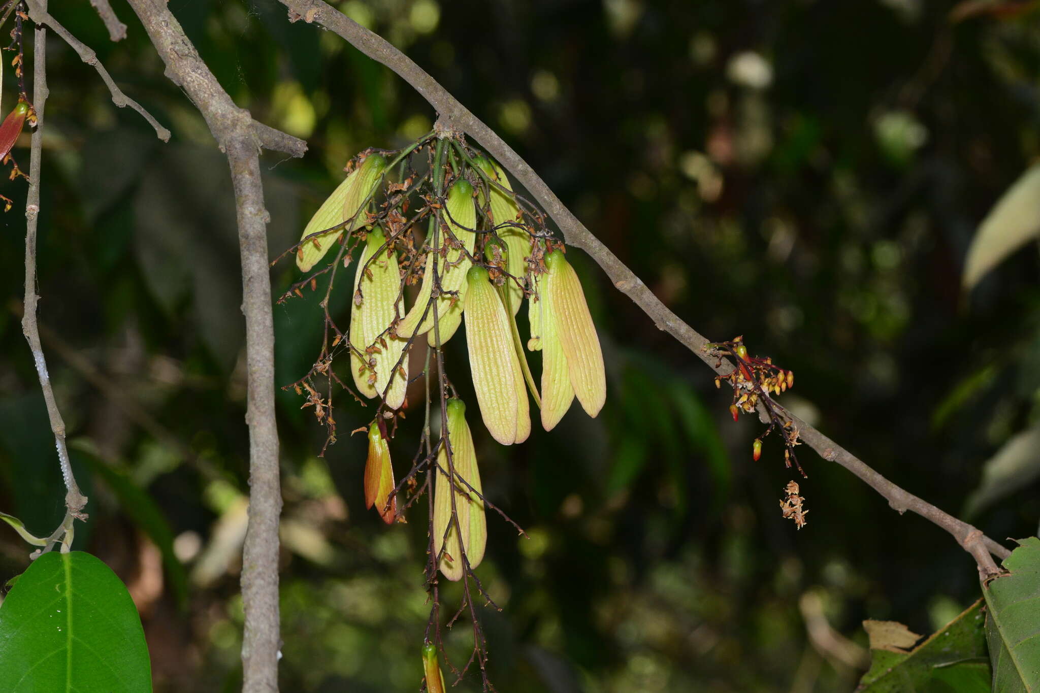
[[[1038,233],[1040,165],[1022,174],[979,224],[964,259],[964,288],[970,291],[988,271]]]

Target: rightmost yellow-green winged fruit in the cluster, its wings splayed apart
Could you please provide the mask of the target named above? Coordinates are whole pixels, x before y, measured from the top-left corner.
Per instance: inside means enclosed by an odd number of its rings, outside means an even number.
[[[540,279],[542,300],[545,301],[542,309],[542,423],[548,430],[566,412],[566,407],[563,411],[558,408],[565,399],[570,406],[566,391],[557,387],[557,392],[553,393],[553,407],[546,416],[545,402],[549,399],[545,393],[546,380],[558,377],[561,356],[566,364],[569,389],[573,389],[574,396],[590,417],[599,414],[606,401],[606,374],[599,337],[577,273],[560,249],[546,256],[545,266],[547,271]]]

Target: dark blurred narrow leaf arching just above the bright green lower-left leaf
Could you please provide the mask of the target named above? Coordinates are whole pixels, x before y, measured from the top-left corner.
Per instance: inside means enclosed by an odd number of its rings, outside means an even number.
[[[86,469],[90,470],[92,474],[97,474],[104,479],[105,484],[119,498],[123,511],[155,543],[162,554],[162,564],[166,568],[166,577],[177,595],[177,603],[182,607],[186,606],[188,598],[187,574],[184,570],[184,564],[174,553],[174,532],[170,529],[170,523],[166,522],[159,506],[122,470],[98,459],[94,455],[86,454],[82,450],[74,450],[71,454],[74,459],[80,460]]]

